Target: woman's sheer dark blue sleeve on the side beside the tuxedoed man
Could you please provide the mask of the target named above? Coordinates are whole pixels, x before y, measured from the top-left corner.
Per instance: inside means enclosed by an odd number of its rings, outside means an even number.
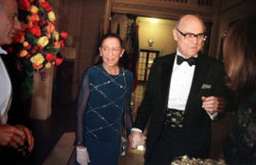
[[[132,108],[131,108],[131,98],[132,98],[132,88],[133,88],[133,74],[126,72],[126,96],[125,96],[125,110],[123,115],[122,124],[125,126],[126,130],[126,138],[131,133],[131,129],[133,127],[133,116],[132,116]]]

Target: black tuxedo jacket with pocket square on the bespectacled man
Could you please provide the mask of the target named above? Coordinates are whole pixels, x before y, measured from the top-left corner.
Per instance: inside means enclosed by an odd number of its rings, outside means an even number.
[[[175,54],[155,58],[144,98],[137,109],[134,127],[144,130],[151,119],[148,127],[145,158],[151,156],[152,149],[164,124],[174,58]],[[187,137],[184,142],[192,151],[199,152],[199,155],[200,152],[203,152],[208,156],[210,152],[211,120],[209,114],[202,108],[201,97],[211,95],[225,97],[225,94],[226,86],[222,63],[198,54],[182,129],[184,129],[184,136]]]

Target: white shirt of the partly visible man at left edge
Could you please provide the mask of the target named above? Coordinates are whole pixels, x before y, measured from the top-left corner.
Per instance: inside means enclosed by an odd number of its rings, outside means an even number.
[[[7,54],[5,50],[0,47],[0,54]],[[11,103],[11,83],[6,66],[0,57],[0,115],[2,124],[8,121],[8,111]]]

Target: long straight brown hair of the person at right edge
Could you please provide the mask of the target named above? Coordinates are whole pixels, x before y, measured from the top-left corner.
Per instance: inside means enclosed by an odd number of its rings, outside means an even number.
[[[232,25],[224,41],[224,65],[228,87],[239,98],[256,91],[256,15]]]

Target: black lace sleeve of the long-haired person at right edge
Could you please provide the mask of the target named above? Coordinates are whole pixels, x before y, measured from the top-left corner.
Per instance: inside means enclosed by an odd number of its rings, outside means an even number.
[[[224,156],[228,164],[252,164],[256,159],[256,113],[251,108],[239,108],[230,124]]]

